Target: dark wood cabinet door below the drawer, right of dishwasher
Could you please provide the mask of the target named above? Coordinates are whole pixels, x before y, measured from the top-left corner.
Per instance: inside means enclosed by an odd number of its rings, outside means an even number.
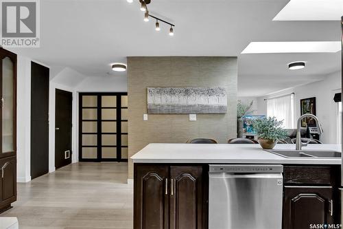
[[[283,228],[303,229],[310,224],[333,223],[333,188],[285,187]]]

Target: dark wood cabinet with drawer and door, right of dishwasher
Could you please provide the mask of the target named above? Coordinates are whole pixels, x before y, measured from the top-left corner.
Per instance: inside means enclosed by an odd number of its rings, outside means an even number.
[[[284,166],[283,229],[337,224],[340,166]]]

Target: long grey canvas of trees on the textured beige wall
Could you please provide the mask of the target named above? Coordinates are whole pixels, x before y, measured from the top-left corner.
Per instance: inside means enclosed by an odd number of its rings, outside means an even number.
[[[147,113],[226,113],[224,87],[148,87]]]

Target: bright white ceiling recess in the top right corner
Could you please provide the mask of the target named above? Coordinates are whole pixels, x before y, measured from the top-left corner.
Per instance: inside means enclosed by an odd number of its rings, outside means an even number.
[[[340,21],[343,0],[291,0],[273,21]]]

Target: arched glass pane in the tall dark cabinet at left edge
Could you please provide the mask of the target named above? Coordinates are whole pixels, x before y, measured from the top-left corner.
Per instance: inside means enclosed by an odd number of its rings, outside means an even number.
[[[13,80],[14,63],[9,57],[2,59],[2,153],[14,151],[14,131],[13,131]]]

